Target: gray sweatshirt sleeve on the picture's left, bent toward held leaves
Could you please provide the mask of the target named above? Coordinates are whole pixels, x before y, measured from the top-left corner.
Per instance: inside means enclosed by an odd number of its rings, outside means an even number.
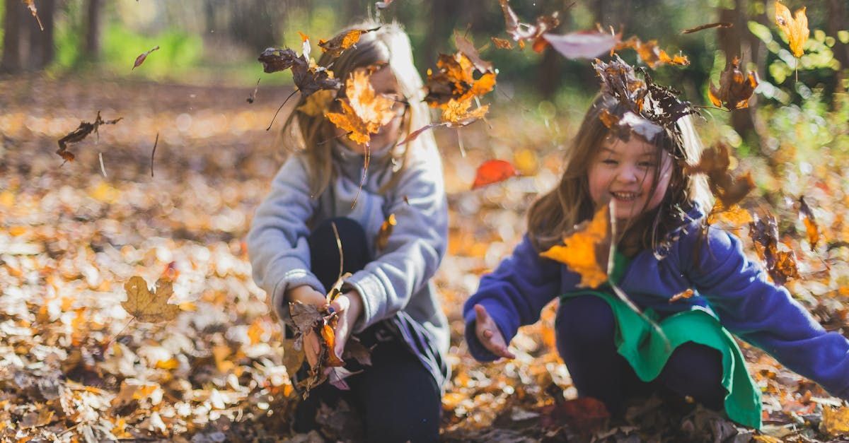
[[[256,209],[247,238],[254,281],[265,289],[274,311],[286,323],[291,322],[284,300],[286,289],[306,284],[326,292],[310,272],[306,221],[312,216],[313,207],[308,183],[306,165],[299,156],[290,156]]]

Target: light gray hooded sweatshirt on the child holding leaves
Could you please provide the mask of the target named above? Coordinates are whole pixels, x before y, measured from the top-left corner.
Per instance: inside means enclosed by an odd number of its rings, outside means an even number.
[[[407,167],[393,172],[396,160],[390,149],[372,153],[368,177],[358,197],[363,155],[336,143],[335,180],[317,199],[310,196],[306,159],[291,155],[274,177],[248,233],[253,278],[270,294],[278,317],[284,323],[291,322],[284,300],[287,289],[307,284],[324,294],[328,290],[310,272],[306,238],[312,227],[342,216],[359,222],[374,261],[345,281],[363,298],[363,313],[353,334],[377,322],[388,322],[441,386],[447,379],[449,332],[430,281],[447,246],[441,158],[433,143],[414,143]],[[401,177],[380,193],[393,173]],[[355,198],[357,205],[351,207]],[[390,214],[395,214],[397,224],[386,247],[375,250],[380,225]]]

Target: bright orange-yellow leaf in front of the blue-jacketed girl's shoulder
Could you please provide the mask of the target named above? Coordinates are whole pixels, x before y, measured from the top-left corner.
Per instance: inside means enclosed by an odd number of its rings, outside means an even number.
[[[613,257],[613,221],[610,215],[615,211],[610,209],[611,205],[614,205],[613,201],[609,205],[602,205],[592,220],[582,221],[575,227],[575,231],[563,239],[563,244],[555,244],[540,253],[579,274],[579,288],[598,288],[607,282]]]

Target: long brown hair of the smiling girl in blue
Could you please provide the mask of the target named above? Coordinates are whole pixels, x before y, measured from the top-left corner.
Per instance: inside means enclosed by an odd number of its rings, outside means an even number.
[[[537,250],[548,250],[554,244],[562,242],[566,234],[573,231],[581,221],[592,218],[596,210],[589,193],[588,167],[599,152],[604,139],[612,136],[610,129],[604,126],[600,118],[605,110],[611,115],[621,117],[629,109],[609,94],[599,94],[593,99],[571,149],[565,154],[565,170],[557,188],[534,201],[528,211],[528,236]],[[672,179],[661,205],[649,214],[639,216],[633,222],[629,221],[628,226],[621,229],[619,238],[616,238],[626,255],[633,255],[638,250],[655,249],[660,239],[676,227],[672,223],[680,220],[675,211],[691,204],[700,205],[703,210],[711,207],[711,192],[707,187],[706,178],[683,173],[681,162],[694,164],[699,160],[703,149],[691,116],[685,115],[678,119],[676,126],[680,131],[680,138],[662,131],[650,141],[658,150],[675,152],[678,158],[672,160]],[[660,155],[656,156],[656,161],[660,162],[660,159]],[[654,188],[659,182],[660,170],[660,167],[655,168],[651,193],[655,192]]]

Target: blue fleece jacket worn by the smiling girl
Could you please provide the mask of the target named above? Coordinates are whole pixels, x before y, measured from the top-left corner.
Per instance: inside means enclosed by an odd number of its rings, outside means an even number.
[[[698,216],[693,218],[704,216],[695,211]],[[761,266],[746,258],[734,235],[711,227],[700,239],[699,222],[683,227],[666,258],[658,260],[652,250],[635,255],[619,287],[640,309],[662,315],[706,306],[740,339],[830,394],[849,399],[849,340],[826,332],[787,289],[770,282]],[[472,356],[481,362],[496,359],[475,336],[476,304],[486,307],[509,341],[520,326],[537,322],[548,302],[575,290],[580,280],[565,265],[540,257],[526,236],[466,300],[465,336]],[[685,289],[694,289],[694,297],[669,303]]]

